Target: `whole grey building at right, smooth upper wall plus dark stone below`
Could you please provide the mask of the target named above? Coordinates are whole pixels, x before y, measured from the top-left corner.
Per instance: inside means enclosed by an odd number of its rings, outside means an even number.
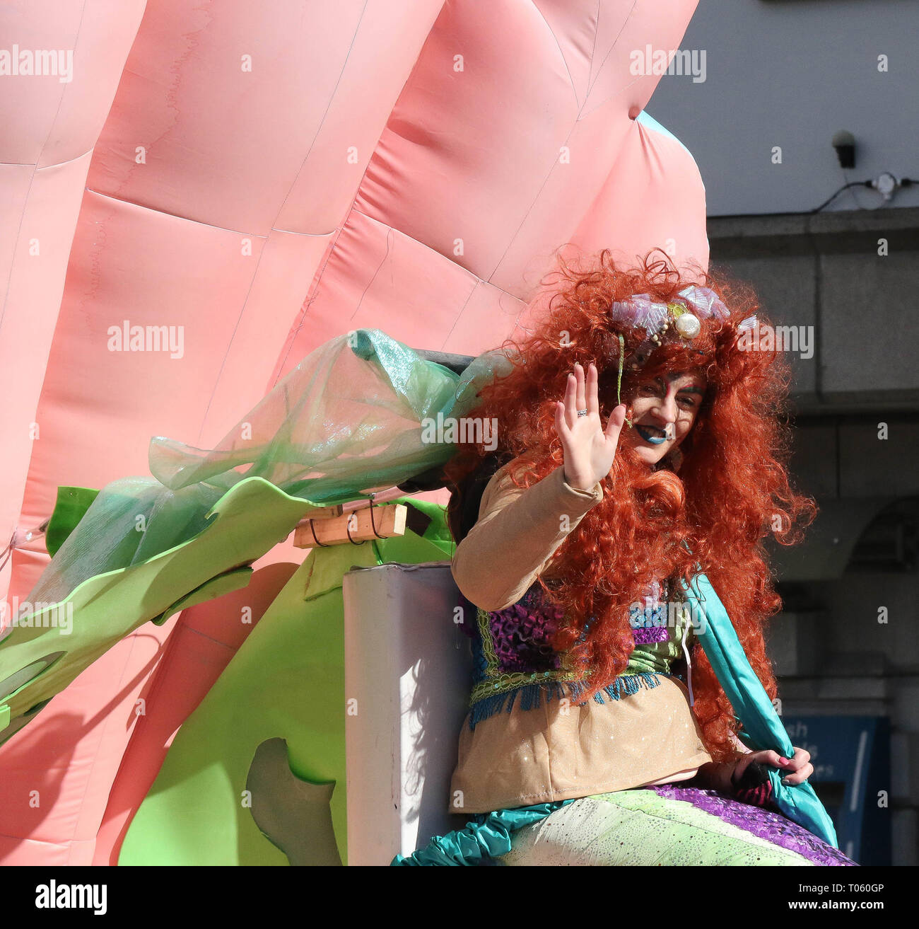
[[[895,865],[919,862],[919,574],[848,558],[880,512],[873,498],[898,501],[919,533],[919,185],[889,203],[857,188],[832,216],[800,214],[848,181],[919,178],[917,40],[915,0],[700,0],[680,49],[697,62],[705,51],[705,80],[665,75],[647,107],[692,151],[708,215],[722,217],[708,223],[713,266],[753,284],[773,323],[813,327],[814,356],[788,358],[792,469],[829,535],[815,525],[809,543],[773,556],[787,612],[770,653],[783,714],[889,718]],[[858,146],[846,172],[839,129]]]

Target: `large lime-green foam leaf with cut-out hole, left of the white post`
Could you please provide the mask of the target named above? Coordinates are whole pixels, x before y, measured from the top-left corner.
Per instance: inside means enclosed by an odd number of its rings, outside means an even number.
[[[317,548],[292,575],[173,740],[124,837],[119,865],[275,865],[288,857],[244,805],[252,758],[285,739],[291,774],[334,783],[330,815],[347,861],[342,580],[354,566],[450,557],[444,508],[414,532],[361,545]],[[385,617],[381,617],[381,622]]]

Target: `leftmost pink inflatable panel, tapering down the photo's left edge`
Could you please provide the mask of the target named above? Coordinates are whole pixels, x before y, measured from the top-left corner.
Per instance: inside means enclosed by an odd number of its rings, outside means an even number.
[[[144,3],[17,0],[0,7],[3,48],[54,52],[58,72],[0,77],[0,396],[15,398],[0,412],[0,549],[18,526],[32,529],[19,521],[19,509],[73,229]],[[10,570],[10,562],[0,569],[0,595]]]

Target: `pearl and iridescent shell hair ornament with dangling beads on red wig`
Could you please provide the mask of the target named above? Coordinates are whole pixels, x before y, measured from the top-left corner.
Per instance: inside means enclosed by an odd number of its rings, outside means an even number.
[[[610,306],[610,318],[623,322],[633,329],[644,329],[645,339],[635,349],[629,369],[637,370],[651,356],[654,348],[666,338],[680,338],[692,342],[702,332],[701,320],[728,320],[731,312],[721,302],[718,294],[708,287],[694,284],[684,287],[669,303],[655,303],[651,294],[635,294],[628,300],[614,300]],[[757,324],[756,316],[747,317],[737,326],[738,331]],[[619,373],[616,379],[616,402],[622,402],[622,370],[625,364],[626,340],[619,334]],[[626,420],[628,425],[631,422]]]

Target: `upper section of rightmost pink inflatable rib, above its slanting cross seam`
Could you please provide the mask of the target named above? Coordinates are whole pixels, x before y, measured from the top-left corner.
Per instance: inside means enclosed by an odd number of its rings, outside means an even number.
[[[693,7],[494,0],[483,30],[481,7],[447,5],[356,210],[529,299],[550,252],[576,233],[615,170],[633,129],[629,115],[657,84],[657,76],[629,72],[631,50],[678,46]],[[462,72],[452,64],[457,55]],[[642,175],[622,179],[634,186]],[[631,241],[614,215],[604,225],[604,243]],[[506,333],[496,326],[494,334]]]

